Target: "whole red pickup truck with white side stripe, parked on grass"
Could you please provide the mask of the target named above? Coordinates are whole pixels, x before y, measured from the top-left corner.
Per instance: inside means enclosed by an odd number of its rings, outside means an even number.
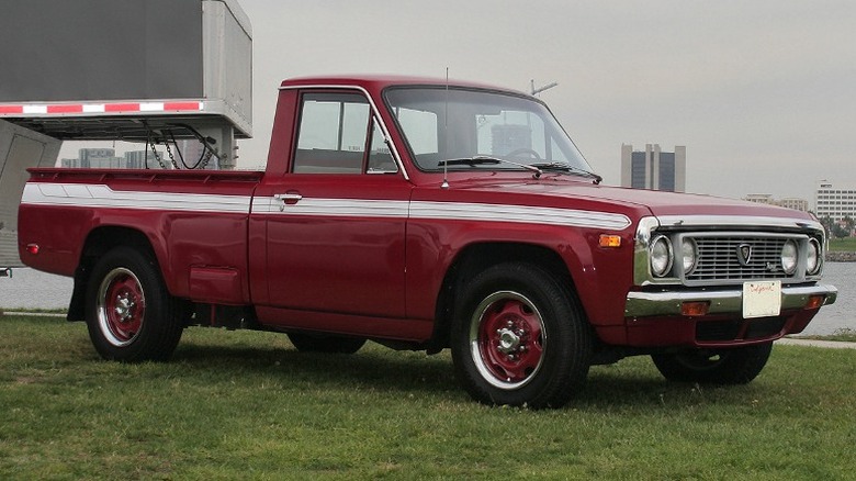
[[[264,172],[32,169],[19,248],[75,278],[68,318],[108,359],[167,359],[191,325],[451,348],[475,400],[532,407],[632,355],[748,382],[835,301],[810,215],[600,180],[530,96],[300,78]]]

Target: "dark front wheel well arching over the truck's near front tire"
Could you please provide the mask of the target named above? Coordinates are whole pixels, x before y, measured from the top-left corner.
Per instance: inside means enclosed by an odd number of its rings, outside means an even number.
[[[531,244],[486,243],[464,248],[446,273],[435,313],[435,329],[429,351],[449,347],[449,333],[461,287],[491,266],[503,262],[528,262],[548,271],[576,295],[574,281],[561,256],[548,247]]]

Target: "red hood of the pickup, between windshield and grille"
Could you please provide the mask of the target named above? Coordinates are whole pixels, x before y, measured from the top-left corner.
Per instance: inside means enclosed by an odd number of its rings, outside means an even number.
[[[527,179],[526,181],[504,181],[500,179],[481,179],[481,181],[452,182],[453,188],[477,191],[500,191],[505,194],[543,197],[538,202],[554,203],[545,198],[566,199],[555,202],[561,205],[585,203],[597,205],[598,210],[623,212],[638,215],[663,216],[753,216],[778,217],[813,221],[806,212],[775,205],[758,204],[742,200],[724,199],[713,195],[663,192],[656,190],[628,189],[620,187],[596,186],[588,182],[570,180],[566,177]],[[559,206],[559,205],[556,205]],[[645,212],[647,211],[647,212]]]

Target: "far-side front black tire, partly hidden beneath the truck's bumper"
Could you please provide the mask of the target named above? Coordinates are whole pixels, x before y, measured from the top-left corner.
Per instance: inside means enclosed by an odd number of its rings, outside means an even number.
[[[773,343],[764,343],[733,349],[656,354],[651,359],[669,381],[745,384],[761,373],[771,350]]]

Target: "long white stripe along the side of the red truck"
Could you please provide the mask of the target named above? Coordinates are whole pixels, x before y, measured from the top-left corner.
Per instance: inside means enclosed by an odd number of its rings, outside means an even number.
[[[248,195],[116,191],[108,186],[82,183],[27,183],[21,203],[227,213],[249,213],[251,206],[255,214],[273,216],[514,222],[608,231],[621,231],[631,224],[630,219],[622,214],[530,205],[313,198],[285,204],[273,197],[250,199]]]

